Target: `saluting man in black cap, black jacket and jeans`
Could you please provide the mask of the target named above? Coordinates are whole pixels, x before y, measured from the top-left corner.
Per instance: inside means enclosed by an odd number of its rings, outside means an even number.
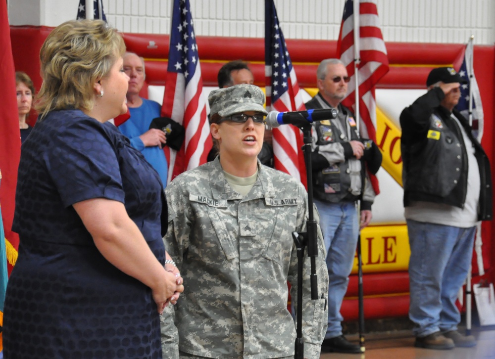
[[[457,331],[455,301],[471,264],[478,221],[492,220],[490,163],[469,122],[454,109],[465,84],[451,67],[433,69],[428,92],[400,114],[415,346],[476,345]]]

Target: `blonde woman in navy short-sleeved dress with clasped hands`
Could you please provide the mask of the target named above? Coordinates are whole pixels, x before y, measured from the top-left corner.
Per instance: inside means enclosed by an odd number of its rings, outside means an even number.
[[[107,120],[126,111],[122,37],[68,21],[41,48],[40,117],[23,143],[4,358],[162,358],[183,291],[163,246],[156,171]],[[164,227],[166,228],[166,227]]]

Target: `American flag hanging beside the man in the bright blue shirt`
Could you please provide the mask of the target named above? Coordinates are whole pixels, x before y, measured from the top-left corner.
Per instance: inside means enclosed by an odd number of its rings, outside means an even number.
[[[174,0],[161,115],[181,124],[186,136],[178,153],[170,149],[169,181],[206,162],[212,146],[208,110],[189,0]]]

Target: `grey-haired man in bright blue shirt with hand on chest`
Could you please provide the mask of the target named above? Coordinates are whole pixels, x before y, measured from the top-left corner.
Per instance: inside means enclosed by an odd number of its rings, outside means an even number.
[[[167,142],[165,133],[159,129],[149,129],[151,121],[160,117],[161,105],[158,102],[139,96],[145,82],[145,61],[133,52],[124,54],[124,71],[129,76],[127,106],[131,117],[118,127],[129,137],[131,145],[140,150],[146,160],[160,175],[163,187],[167,185],[168,164],[162,147]]]

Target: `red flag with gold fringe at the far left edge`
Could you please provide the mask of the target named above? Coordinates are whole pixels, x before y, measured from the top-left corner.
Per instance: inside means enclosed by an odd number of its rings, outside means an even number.
[[[0,84],[2,84],[0,86],[0,98],[2,99],[0,106],[0,205],[10,272],[17,259],[17,249],[19,248],[19,236],[12,232],[12,221],[14,218],[17,167],[21,155],[21,134],[15,96],[14,59],[5,1],[0,1]]]

